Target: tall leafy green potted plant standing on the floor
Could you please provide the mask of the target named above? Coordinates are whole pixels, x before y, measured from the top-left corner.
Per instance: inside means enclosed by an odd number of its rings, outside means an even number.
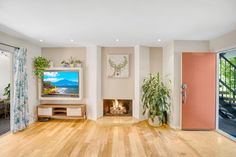
[[[170,81],[169,81],[170,82]],[[170,111],[170,88],[160,79],[159,73],[150,74],[142,85],[143,114],[148,115],[152,126],[161,126],[167,122]]]

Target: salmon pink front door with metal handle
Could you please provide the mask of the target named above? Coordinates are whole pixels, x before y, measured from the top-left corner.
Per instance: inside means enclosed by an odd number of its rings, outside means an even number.
[[[215,129],[215,53],[182,54],[182,92],[182,129]]]

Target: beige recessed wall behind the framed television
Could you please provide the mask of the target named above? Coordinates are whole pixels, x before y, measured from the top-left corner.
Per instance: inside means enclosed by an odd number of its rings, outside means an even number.
[[[70,57],[73,59],[81,60],[83,67],[83,99],[81,101],[42,101],[42,103],[85,103],[86,99],[86,48],[67,48],[67,47],[58,47],[58,48],[42,48],[42,56],[50,59],[54,67],[62,67],[62,60],[69,60]]]

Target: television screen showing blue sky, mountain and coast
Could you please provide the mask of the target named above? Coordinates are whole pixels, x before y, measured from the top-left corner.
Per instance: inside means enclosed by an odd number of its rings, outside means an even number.
[[[79,96],[79,72],[46,71],[43,74],[42,96]]]

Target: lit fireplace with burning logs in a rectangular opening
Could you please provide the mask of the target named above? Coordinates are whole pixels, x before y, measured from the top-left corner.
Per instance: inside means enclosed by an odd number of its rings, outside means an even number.
[[[104,99],[104,116],[132,116],[132,100],[128,99]]]

